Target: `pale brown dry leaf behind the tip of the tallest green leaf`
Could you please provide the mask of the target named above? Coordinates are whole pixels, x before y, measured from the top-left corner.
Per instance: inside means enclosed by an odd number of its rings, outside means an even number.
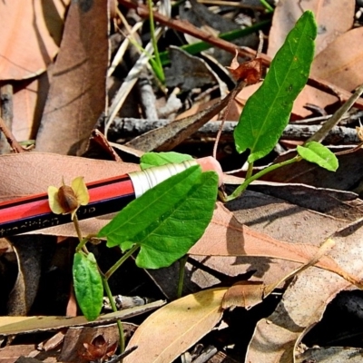
[[[273,57],[285,41],[286,35],[306,10],[311,10],[318,23],[316,54],[319,54],[338,35],[351,29],[355,1],[280,0],[272,19],[267,54]]]

